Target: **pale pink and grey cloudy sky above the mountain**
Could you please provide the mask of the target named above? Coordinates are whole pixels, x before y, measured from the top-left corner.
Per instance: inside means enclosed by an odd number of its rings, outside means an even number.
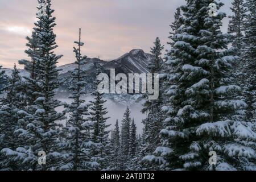
[[[184,0],[52,0],[56,23],[54,31],[63,54],[59,65],[72,63],[73,42],[82,28],[82,53],[112,60],[134,48],[150,51],[159,36],[168,41],[169,24],[175,9]],[[222,11],[230,14],[232,0]],[[0,0],[0,64],[12,68],[20,59],[26,59],[26,36],[31,35],[36,21],[37,0]],[[226,31],[228,19],[224,20]],[[166,47],[168,48],[168,47]],[[19,66],[19,68],[22,68]]]

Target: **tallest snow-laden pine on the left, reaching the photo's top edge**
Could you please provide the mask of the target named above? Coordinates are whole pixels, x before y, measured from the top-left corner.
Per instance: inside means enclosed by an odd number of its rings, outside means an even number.
[[[57,45],[56,35],[53,32],[56,24],[55,17],[52,16],[54,10],[51,9],[51,0],[38,0],[38,2],[39,11],[45,7],[45,13],[37,14],[38,22],[35,23],[36,28],[34,28],[40,52],[34,57],[37,65],[36,98],[33,105],[28,106],[30,109],[19,112],[23,116],[20,122],[26,127],[15,131],[19,137],[26,140],[26,146],[20,146],[16,151],[5,148],[2,153],[19,160],[20,164],[27,164],[25,169],[54,170],[59,167],[58,158],[61,157],[58,152],[60,128],[56,121],[64,116],[64,113],[56,112],[56,107],[61,106],[61,103],[54,99],[55,89],[59,86],[57,80],[59,70],[56,64],[62,55],[57,56],[53,52]],[[38,163],[38,154],[41,151],[46,152],[46,165]]]

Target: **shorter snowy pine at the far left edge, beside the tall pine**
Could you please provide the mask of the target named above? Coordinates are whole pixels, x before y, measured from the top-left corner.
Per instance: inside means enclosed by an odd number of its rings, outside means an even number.
[[[26,106],[26,96],[24,95],[22,84],[22,78],[19,76],[16,65],[14,65],[13,72],[9,78],[9,84],[6,86],[7,96],[0,108],[0,151],[3,148],[15,150],[19,144],[24,144],[24,140],[20,140],[15,135],[15,131],[19,128],[18,113]],[[20,166],[15,160],[0,154],[0,169],[18,170],[22,169]]]

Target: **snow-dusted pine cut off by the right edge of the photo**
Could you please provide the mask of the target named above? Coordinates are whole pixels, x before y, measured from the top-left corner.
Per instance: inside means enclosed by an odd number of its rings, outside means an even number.
[[[248,14],[246,16],[245,48],[243,49],[243,59],[245,59],[245,90],[247,119],[256,119],[256,1],[247,0],[246,6]]]

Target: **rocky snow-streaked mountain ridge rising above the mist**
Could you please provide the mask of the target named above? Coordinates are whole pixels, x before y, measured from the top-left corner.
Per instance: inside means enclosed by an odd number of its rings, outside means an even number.
[[[88,76],[86,76],[86,90],[90,92],[93,88],[93,81],[96,78],[96,64],[100,65],[101,72],[109,73],[110,69],[115,69],[115,73],[148,73],[147,64],[153,56],[149,53],[145,53],[142,49],[133,49],[129,53],[115,59],[113,61],[104,61],[97,58],[87,58],[86,64],[82,67]],[[59,92],[67,92],[68,86],[72,84],[71,73],[77,65],[66,64],[58,67],[61,69],[59,72],[59,79],[63,81],[63,85],[60,86]],[[6,71],[6,75],[11,75],[12,69],[3,69]],[[29,76],[29,73],[24,69],[19,69],[21,76]]]

